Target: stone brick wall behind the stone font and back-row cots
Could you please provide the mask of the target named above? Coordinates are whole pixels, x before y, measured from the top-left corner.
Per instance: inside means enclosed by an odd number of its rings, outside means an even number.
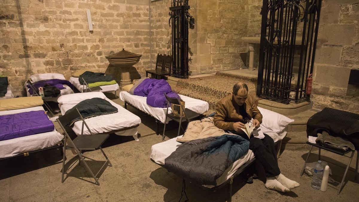
[[[32,74],[69,78],[87,68],[115,73],[104,56],[122,48],[143,55],[132,72],[144,75],[149,38],[149,0],[0,0],[0,74],[8,76],[15,96],[24,95]]]

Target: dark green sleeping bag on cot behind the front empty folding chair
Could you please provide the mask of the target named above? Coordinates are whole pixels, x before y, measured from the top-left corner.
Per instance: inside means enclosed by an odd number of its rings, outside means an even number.
[[[115,106],[111,105],[109,101],[99,97],[95,97],[79,102],[77,105],[67,110],[65,115],[67,113],[70,113],[72,110],[76,110],[76,108],[79,110],[80,114],[84,119],[105,114],[113,114],[117,113],[118,111],[118,109]],[[81,120],[80,116],[72,120],[69,126],[72,127],[72,125],[79,120]]]

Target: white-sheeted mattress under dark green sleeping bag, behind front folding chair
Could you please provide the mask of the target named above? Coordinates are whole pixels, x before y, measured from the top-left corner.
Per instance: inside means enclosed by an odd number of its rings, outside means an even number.
[[[85,122],[89,126],[92,133],[106,133],[113,130],[118,130],[122,128],[128,128],[141,123],[141,119],[127,111],[122,106],[116,104],[115,102],[105,98],[113,106],[118,109],[117,113],[106,114],[101,116],[95,116],[88,119],[85,119]],[[64,115],[67,110],[71,109],[75,105],[59,105],[61,114]],[[73,130],[76,134],[81,134],[82,121],[76,121],[74,123]],[[88,129],[84,127],[84,134],[90,134]],[[116,133],[122,136],[134,136],[137,137],[137,127],[133,129],[126,130],[126,132]]]

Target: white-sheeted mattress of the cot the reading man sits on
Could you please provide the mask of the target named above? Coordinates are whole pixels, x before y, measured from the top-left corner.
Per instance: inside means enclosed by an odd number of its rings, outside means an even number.
[[[181,138],[182,136],[178,136],[172,139],[169,139],[165,142],[160,142],[158,144],[154,144],[151,147],[150,158],[156,162],[157,164],[164,165],[164,160],[171,155],[172,152],[176,151],[177,147],[181,144],[177,142],[177,138]],[[224,183],[227,179],[229,179],[239,167],[241,167],[244,163],[254,158],[254,154],[252,150],[248,150],[246,155],[243,155],[237,161],[234,161],[232,165],[228,167],[227,170],[224,171],[223,175],[220,176],[217,181],[217,186]],[[208,188],[214,187],[213,185],[203,185]]]

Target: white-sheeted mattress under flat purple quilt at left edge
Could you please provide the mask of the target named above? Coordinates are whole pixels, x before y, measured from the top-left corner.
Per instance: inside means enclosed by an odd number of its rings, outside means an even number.
[[[29,107],[25,109],[0,111],[0,115],[17,114],[26,111],[44,110],[42,106]],[[31,136],[19,137],[0,141],[0,159],[15,156],[20,153],[41,150],[52,147],[62,140],[63,136],[55,130]]]

